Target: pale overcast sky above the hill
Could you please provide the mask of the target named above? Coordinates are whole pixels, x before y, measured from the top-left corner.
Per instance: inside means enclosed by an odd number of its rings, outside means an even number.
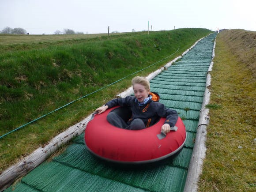
[[[0,0],[0,30],[30,34],[72,29],[83,33],[177,28],[256,31],[256,0]]]

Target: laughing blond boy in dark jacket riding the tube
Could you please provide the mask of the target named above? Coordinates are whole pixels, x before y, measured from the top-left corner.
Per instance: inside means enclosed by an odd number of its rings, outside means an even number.
[[[166,117],[165,123],[161,127],[161,131],[168,133],[170,127],[174,127],[177,122],[177,111],[166,108],[159,103],[158,94],[150,92],[150,83],[145,77],[134,77],[132,79],[132,87],[134,96],[125,98],[117,98],[107,102],[104,106],[99,107],[95,111],[98,114],[105,112],[106,109],[116,105],[128,106],[132,110],[132,117],[125,122],[117,113],[110,112],[107,120],[116,127],[138,130],[147,128],[154,124],[152,119],[156,117]]]

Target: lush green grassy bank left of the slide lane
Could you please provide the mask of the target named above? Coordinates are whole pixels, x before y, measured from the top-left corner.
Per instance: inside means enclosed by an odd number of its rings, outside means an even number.
[[[168,58],[172,60],[209,33],[210,30],[204,29],[180,29],[150,35],[141,32],[109,38],[55,39],[40,43],[29,40],[25,44],[3,45],[0,47],[0,135],[145,68],[180,48]],[[136,75],[145,76],[167,61]],[[129,87],[131,78],[2,138],[1,170]]]

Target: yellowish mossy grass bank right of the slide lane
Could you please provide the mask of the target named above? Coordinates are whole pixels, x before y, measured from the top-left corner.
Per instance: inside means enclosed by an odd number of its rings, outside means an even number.
[[[199,191],[256,191],[256,32],[217,36]]]

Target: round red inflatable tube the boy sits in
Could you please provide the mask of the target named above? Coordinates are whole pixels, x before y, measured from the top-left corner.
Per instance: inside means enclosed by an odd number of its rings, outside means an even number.
[[[85,144],[94,155],[111,162],[148,163],[156,162],[177,153],[186,140],[186,129],[179,117],[175,126],[164,139],[158,139],[166,118],[149,128],[126,130],[117,128],[106,120],[112,109],[96,114],[87,124]]]

